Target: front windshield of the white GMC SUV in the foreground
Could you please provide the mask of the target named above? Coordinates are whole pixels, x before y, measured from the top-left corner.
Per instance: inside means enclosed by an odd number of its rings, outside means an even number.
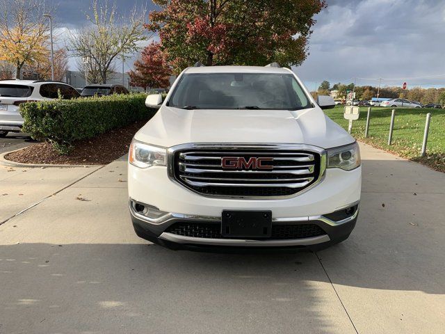
[[[297,110],[311,102],[290,73],[205,73],[182,75],[168,106]]]

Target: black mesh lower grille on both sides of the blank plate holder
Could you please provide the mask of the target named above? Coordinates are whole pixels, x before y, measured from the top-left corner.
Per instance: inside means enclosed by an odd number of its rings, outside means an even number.
[[[184,237],[230,239],[230,237],[221,235],[221,225],[219,223],[179,222],[171,225],[165,232]],[[323,234],[326,234],[326,232],[315,224],[272,225],[272,234],[267,239],[303,239],[318,237]],[[264,240],[264,238],[261,238],[261,240]]]

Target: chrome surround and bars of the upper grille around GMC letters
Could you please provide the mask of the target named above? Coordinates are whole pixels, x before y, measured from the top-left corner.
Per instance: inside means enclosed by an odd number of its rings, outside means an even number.
[[[231,156],[273,157],[273,170],[223,169],[222,158]],[[168,149],[170,179],[209,197],[294,197],[321,182],[325,168],[326,151],[312,145],[196,143]]]

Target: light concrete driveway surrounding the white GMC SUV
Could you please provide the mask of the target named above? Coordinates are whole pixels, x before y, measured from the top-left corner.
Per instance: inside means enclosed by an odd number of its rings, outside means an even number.
[[[0,225],[0,333],[443,333],[445,175],[362,157],[357,227],[316,254],[150,245],[124,161],[65,169],[81,180]]]

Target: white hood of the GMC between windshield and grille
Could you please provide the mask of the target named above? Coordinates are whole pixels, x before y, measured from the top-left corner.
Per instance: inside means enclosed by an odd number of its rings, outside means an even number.
[[[162,106],[135,138],[163,147],[184,143],[299,143],[332,148],[355,141],[318,107],[286,111]]]

